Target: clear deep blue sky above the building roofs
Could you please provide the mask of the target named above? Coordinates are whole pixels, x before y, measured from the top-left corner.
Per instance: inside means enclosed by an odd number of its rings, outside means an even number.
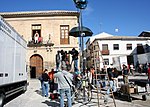
[[[150,0],[88,0],[83,25],[94,35],[107,32],[138,36],[150,31]],[[73,0],[0,0],[0,12],[45,10],[76,11]],[[117,29],[117,30],[116,30]]]

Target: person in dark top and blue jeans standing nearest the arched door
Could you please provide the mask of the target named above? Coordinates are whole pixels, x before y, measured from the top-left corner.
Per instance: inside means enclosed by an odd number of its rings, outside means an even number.
[[[45,69],[44,73],[42,73],[42,96],[43,97],[48,97],[49,93],[49,76],[48,76],[48,70]]]

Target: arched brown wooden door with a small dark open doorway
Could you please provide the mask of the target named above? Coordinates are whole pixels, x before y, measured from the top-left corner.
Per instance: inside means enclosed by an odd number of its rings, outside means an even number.
[[[43,72],[43,58],[39,54],[30,57],[30,78],[38,78]]]

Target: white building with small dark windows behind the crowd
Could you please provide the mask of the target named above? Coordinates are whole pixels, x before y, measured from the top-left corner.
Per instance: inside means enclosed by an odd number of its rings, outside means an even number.
[[[137,61],[144,64],[149,61],[150,37],[136,36],[113,36],[108,33],[100,33],[88,39],[86,42],[87,49],[87,66],[93,66],[92,44],[98,43],[100,50],[100,68],[103,65],[110,66],[113,64],[118,69],[122,64],[128,65]]]

